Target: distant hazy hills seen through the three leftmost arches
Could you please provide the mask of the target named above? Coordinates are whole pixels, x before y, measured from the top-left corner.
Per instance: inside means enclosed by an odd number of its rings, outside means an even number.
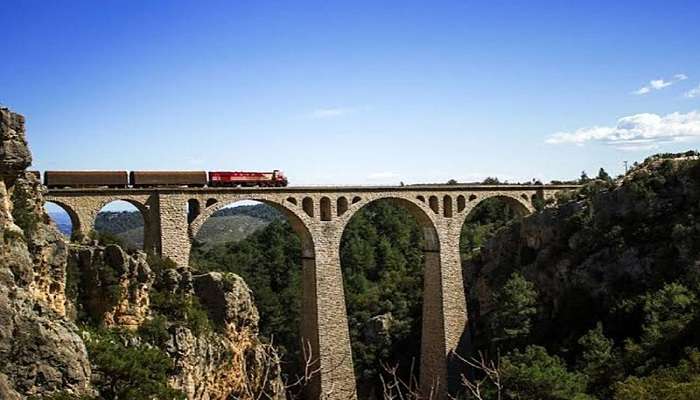
[[[72,226],[68,214],[53,212],[49,216],[62,233],[71,235]],[[238,242],[270,222],[283,219],[284,216],[279,211],[265,204],[223,208],[204,223],[196,239],[204,247]],[[129,248],[143,248],[143,218],[138,211],[101,212],[97,214],[95,229],[121,238]]]

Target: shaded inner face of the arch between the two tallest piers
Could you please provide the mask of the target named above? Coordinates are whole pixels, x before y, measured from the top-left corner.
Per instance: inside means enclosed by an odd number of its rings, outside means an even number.
[[[420,344],[420,385],[426,393],[439,376],[444,374],[445,360],[445,330],[442,316],[442,285],[440,240],[437,227],[431,215],[435,215],[427,207],[411,199],[382,196],[372,198],[367,202],[359,202],[343,214],[341,221],[341,238],[345,235],[348,224],[357,213],[369,205],[386,202],[408,211],[418,223],[422,233],[423,253],[423,301],[421,307],[421,344]],[[342,239],[341,239],[342,240]],[[345,285],[345,283],[343,283]]]

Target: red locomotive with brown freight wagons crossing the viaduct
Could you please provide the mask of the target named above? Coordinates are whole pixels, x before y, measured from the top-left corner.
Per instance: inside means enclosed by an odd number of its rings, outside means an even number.
[[[37,172],[34,172],[37,174]],[[56,188],[150,187],[282,187],[287,177],[280,170],[242,171],[46,171],[44,185]]]

